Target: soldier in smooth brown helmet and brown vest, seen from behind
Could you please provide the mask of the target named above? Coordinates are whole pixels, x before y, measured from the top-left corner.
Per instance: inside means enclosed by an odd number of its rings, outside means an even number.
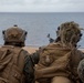
[[[0,48],[0,83],[34,83],[38,54],[29,54],[25,45],[28,32],[17,24],[2,31],[4,44]]]

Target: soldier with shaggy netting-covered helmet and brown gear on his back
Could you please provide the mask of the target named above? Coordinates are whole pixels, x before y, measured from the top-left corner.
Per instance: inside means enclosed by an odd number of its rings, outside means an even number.
[[[59,27],[56,42],[40,49],[36,66],[36,81],[40,83],[80,83],[77,65],[84,58],[77,42],[82,37],[75,22],[65,22]],[[38,76],[39,75],[39,76]]]

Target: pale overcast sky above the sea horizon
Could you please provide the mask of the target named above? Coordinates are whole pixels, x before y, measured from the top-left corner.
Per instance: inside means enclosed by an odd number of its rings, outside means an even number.
[[[0,0],[0,12],[84,12],[84,0]]]

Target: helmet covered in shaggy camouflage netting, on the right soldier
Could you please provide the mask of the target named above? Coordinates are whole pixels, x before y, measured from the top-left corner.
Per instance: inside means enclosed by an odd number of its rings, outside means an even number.
[[[82,37],[81,28],[74,21],[62,23],[59,27],[57,37],[63,45],[76,46]]]

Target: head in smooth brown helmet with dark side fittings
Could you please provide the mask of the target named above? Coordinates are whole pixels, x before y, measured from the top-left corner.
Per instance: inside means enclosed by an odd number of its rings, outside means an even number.
[[[27,37],[27,31],[18,28],[18,25],[13,25],[4,31],[2,31],[3,40],[6,45],[17,45],[24,46],[24,41]]]

